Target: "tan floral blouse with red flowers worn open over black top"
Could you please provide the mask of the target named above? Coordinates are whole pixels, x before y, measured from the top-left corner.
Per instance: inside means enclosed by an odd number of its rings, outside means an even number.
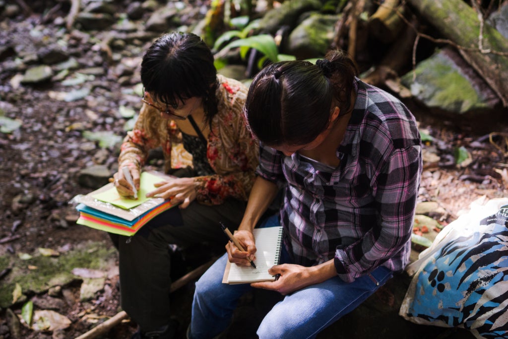
[[[237,80],[217,75],[218,113],[211,121],[207,158],[215,174],[194,178],[196,200],[218,205],[226,198],[247,200],[258,166],[259,148],[246,128],[242,107],[247,88]],[[173,120],[161,117],[156,109],[143,104],[134,129],[123,140],[118,163],[145,164],[150,149],[162,146],[165,168],[171,169],[171,148],[181,143],[181,132]]]

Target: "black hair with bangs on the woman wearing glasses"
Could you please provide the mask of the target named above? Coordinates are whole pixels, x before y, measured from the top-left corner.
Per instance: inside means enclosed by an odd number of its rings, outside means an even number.
[[[141,82],[155,100],[169,106],[202,98],[208,122],[217,113],[213,54],[195,34],[173,32],[155,40],[143,56]]]

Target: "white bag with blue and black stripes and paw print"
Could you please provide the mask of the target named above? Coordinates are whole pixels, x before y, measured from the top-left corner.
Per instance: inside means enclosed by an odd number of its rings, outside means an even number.
[[[472,205],[407,271],[415,276],[399,312],[405,319],[508,338],[508,200]]]

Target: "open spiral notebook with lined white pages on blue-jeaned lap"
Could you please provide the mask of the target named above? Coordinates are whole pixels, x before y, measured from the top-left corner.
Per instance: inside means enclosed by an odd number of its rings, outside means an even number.
[[[256,268],[226,264],[223,283],[248,284],[263,281],[275,281],[275,275],[268,269],[279,263],[282,245],[282,226],[255,228],[252,233],[256,239]]]

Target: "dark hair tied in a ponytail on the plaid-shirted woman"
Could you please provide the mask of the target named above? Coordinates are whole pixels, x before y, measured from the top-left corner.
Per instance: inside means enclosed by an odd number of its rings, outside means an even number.
[[[255,138],[272,146],[307,144],[328,127],[332,103],[340,114],[350,110],[356,65],[341,50],[325,60],[280,61],[256,75],[244,106]]]

